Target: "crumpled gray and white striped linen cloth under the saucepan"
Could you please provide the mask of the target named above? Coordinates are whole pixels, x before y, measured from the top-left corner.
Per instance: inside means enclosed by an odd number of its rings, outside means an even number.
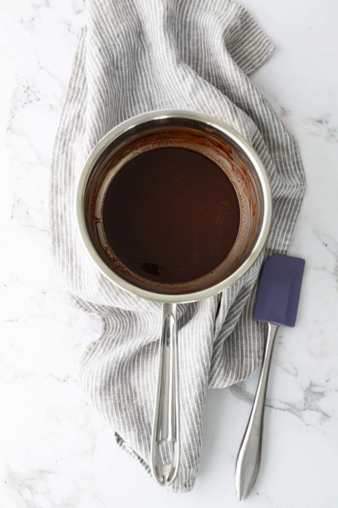
[[[87,0],[61,113],[50,189],[53,259],[73,301],[102,323],[80,360],[80,383],[119,445],[148,472],[161,308],[109,282],[79,244],[73,201],[85,158],[133,115],[190,109],[241,133],[270,177],[274,218],[262,255],[231,288],[178,308],[181,466],[168,487],[173,492],[189,491],[196,479],[207,387],[229,387],[258,367],[264,344],[264,330],[252,319],[258,272],[264,258],[286,251],[304,193],[297,146],[248,79],[272,50],[230,0]]]

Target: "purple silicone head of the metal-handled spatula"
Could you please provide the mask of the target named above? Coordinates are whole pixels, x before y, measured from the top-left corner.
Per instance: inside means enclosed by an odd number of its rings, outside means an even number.
[[[277,254],[262,269],[253,317],[256,321],[294,326],[305,260]]]

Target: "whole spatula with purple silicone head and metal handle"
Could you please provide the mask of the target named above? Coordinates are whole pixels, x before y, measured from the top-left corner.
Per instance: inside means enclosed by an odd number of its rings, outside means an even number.
[[[304,265],[304,259],[276,255],[265,262],[261,271],[253,317],[268,323],[268,336],[251,415],[237,456],[235,486],[240,501],[248,497],[257,478],[272,349],[278,326],[295,325]]]

